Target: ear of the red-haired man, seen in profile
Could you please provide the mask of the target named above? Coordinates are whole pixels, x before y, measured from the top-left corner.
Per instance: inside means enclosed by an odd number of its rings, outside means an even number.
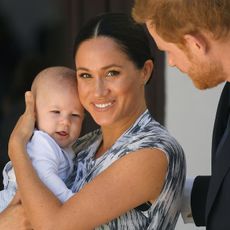
[[[193,52],[206,54],[208,51],[207,39],[202,34],[185,34],[185,45]]]

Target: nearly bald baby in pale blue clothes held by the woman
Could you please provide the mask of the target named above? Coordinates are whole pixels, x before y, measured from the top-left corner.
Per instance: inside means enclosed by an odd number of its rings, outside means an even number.
[[[75,71],[67,67],[47,68],[36,76],[31,91],[35,99],[36,129],[27,152],[40,179],[61,202],[65,202],[73,195],[65,179],[73,170],[71,147],[80,135],[84,116]],[[17,190],[11,162],[4,167],[3,177],[0,212]]]

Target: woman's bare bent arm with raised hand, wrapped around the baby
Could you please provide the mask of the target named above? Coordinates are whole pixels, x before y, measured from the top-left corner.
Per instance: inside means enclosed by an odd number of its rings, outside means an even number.
[[[35,229],[93,229],[158,197],[168,162],[162,151],[143,149],[113,163],[62,205],[39,180],[26,154],[26,138],[33,127],[33,100],[28,96],[9,150],[21,199]]]

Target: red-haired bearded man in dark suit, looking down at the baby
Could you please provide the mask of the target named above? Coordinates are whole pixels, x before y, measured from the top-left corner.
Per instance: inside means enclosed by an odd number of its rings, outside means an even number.
[[[226,82],[213,131],[212,175],[195,178],[191,186],[191,209],[197,226],[228,230],[230,1],[136,0],[132,13],[137,22],[146,24],[158,48],[167,53],[169,65],[187,73],[197,88],[212,88]]]

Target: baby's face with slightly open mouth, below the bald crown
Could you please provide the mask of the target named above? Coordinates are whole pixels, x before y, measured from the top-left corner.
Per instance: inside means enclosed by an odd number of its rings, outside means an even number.
[[[37,128],[48,133],[62,148],[69,147],[79,137],[83,114],[73,86],[41,87],[37,93]]]

